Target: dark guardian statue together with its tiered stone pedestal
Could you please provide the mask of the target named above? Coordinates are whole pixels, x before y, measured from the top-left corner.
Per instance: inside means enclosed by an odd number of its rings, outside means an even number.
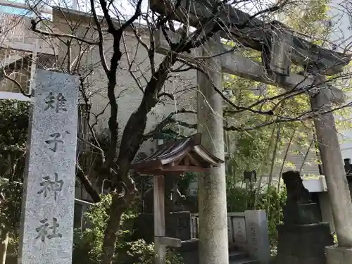
[[[329,223],[322,222],[320,208],[312,203],[299,172],[282,174],[287,187],[284,225],[277,225],[277,263],[324,264],[325,246],[334,244]]]

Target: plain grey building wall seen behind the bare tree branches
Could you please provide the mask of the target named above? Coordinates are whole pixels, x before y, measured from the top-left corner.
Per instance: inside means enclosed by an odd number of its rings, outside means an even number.
[[[71,13],[73,11],[70,11]],[[61,32],[67,32],[69,34],[77,34],[83,36],[86,32],[86,27],[91,23],[90,19],[85,18],[82,20],[81,15],[70,15],[70,20],[67,16],[63,18],[62,12],[54,12],[54,24]],[[75,32],[72,32],[70,28],[77,27]],[[94,38],[94,34],[89,32],[87,37]],[[86,38],[87,38],[86,37]],[[149,44],[149,37],[147,35],[141,36],[141,39],[146,44]],[[110,63],[110,58],[112,54],[112,39],[109,35],[105,38],[105,53],[108,61]],[[66,48],[64,44],[60,46],[62,52],[60,54],[61,58],[58,61],[63,61],[66,53]],[[139,103],[142,100],[143,92],[142,90],[146,86],[147,80],[151,77],[151,65],[149,62],[149,57],[146,49],[140,44],[133,32],[127,32],[125,34],[125,45],[121,44],[120,47],[122,51],[122,59],[118,66],[117,74],[117,87],[115,89],[115,94],[118,101],[118,123],[119,123],[119,137],[122,137],[122,131],[125,128],[128,118],[130,115],[137,110]],[[72,48],[72,58],[75,58],[80,52],[80,46],[75,45]],[[155,55],[156,67],[162,61],[163,56],[161,54]],[[93,70],[93,74],[89,77],[89,93],[90,93],[90,103],[92,104],[92,113],[99,114],[106,110],[99,117],[98,125],[96,130],[98,132],[103,132],[108,127],[108,118],[110,116],[110,107],[108,106],[107,98],[107,84],[108,80],[106,74],[103,72],[101,67],[101,58],[99,56],[98,46],[94,46],[87,54],[84,55],[82,61],[80,61],[80,68],[82,71]],[[130,69],[130,65],[132,67]],[[177,68],[175,65],[174,68]],[[132,77],[130,70],[134,73],[135,78],[137,78],[139,85],[137,85],[136,80]],[[161,93],[168,93],[174,95],[174,99],[170,99],[168,96],[161,97],[161,103],[152,109],[151,113],[148,115],[148,122],[146,125],[145,132],[150,132],[153,127],[157,125],[163,118],[168,116],[174,111],[180,111],[182,108],[187,110],[196,111],[196,72],[190,70],[184,73],[175,73],[165,82],[165,86]],[[196,123],[196,115],[194,114],[182,114],[175,115],[175,119],[180,118],[184,122],[190,124]],[[176,126],[176,130],[178,127]],[[182,131],[183,128],[180,127]],[[142,146],[142,150],[146,153],[150,152],[154,144],[146,142]]]

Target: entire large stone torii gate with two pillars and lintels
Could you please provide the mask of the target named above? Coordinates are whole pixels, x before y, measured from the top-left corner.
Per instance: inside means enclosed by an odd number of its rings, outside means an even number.
[[[187,7],[187,2],[187,0],[181,0],[180,8],[174,10],[168,0],[151,0],[151,10],[163,15],[173,12],[172,19],[196,26],[200,21],[210,18],[212,4],[216,3],[216,1],[211,3],[191,1]],[[210,82],[202,73],[197,73],[198,130],[203,134],[206,147],[215,156],[223,158],[222,98],[213,89],[213,85],[222,89],[222,73],[275,84],[288,90],[314,87],[315,89],[310,89],[309,92],[313,110],[328,112],[315,119],[315,130],[339,239],[337,249],[327,248],[327,260],[328,263],[337,263],[335,261],[349,263],[347,261],[352,259],[352,202],[334,116],[329,112],[331,102],[344,103],[344,93],[326,84],[324,75],[341,72],[350,58],[295,37],[281,23],[265,25],[263,21],[252,19],[250,15],[230,5],[221,4],[218,14],[223,21],[230,21],[233,25],[230,27],[230,33],[234,38],[244,46],[262,51],[264,65],[236,51],[229,51],[230,46],[220,44],[220,36],[228,38],[226,36],[228,32],[215,34],[213,39],[203,45],[201,56],[206,59],[203,59],[201,67],[212,80]],[[237,27],[244,23],[248,23],[249,26]],[[180,35],[174,32],[168,32],[168,36],[173,43],[177,43],[177,39],[180,38]],[[155,37],[156,51],[167,54],[170,46],[163,34],[157,32]],[[222,55],[214,56],[216,54]],[[180,56],[185,61],[200,65],[194,56],[189,54],[180,54]],[[290,73],[291,62],[310,70],[306,71],[306,76]],[[199,260],[202,264],[227,264],[225,168],[213,168],[210,174],[213,177],[199,178]]]

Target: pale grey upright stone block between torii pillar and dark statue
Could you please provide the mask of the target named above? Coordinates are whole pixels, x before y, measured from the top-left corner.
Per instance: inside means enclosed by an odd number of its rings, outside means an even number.
[[[246,210],[244,215],[249,254],[258,259],[260,264],[268,264],[270,244],[265,210]]]

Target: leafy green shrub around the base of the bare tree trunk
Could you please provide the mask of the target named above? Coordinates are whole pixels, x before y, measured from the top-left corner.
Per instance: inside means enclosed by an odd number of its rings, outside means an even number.
[[[103,253],[103,237],[111,206],[111,195],[101,196],[101,202],[89,208],[85,217],[89,228],[80,232],[75,230],[73,264],[99,264]],[[118,233],[114,264],[151,264],[154,259],[154,246],[143,239],[132,241],[134,220],[137,206],[132,206],[122,215],[121,228]],[[168,252],[168,264],[182,263],[180,257]]]

